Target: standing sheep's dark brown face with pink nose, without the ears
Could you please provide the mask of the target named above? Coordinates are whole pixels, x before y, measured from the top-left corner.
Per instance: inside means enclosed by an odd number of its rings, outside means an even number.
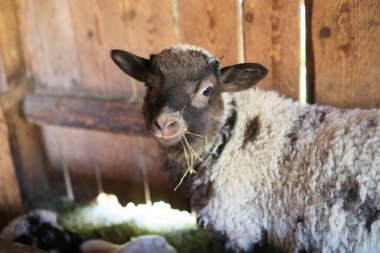
[[[163,146],[180,142],[187,133],[210,137],[217,131],[223,103],[218,61],[197,51],[166,50],[151,57],[153,72],[144,99],[147,128]],[[188,71],[184,71],[184,69]],[[187,134],[189,142],[196,137]]]

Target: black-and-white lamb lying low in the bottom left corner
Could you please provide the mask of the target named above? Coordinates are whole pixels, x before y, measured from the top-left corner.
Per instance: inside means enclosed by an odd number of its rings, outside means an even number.
[[[0,237],[56,253],[80,252],[82,238],[57,224],[55,213],[36,210],[9,223]]]

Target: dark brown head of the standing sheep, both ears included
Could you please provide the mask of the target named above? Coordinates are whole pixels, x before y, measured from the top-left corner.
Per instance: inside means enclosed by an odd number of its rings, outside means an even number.
[[[125,73],[145,83],[145,123],[164,147],[176,145],[188,132],[212,141],[223,115],[221,93],[248,89],[268,72],[256,63],[221,68],[217,58],[191,45],[173,46],[150,59],[121,50],[112,50],[111,57]],[[189,142],[195,139],[190,136]]]

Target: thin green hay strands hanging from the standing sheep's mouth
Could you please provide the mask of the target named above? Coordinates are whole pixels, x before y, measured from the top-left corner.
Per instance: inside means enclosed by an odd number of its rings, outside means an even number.
[[[193,136],[196,136],[196,137],[199,137],[199,138],[202,138],[204,139],[204,146],[203,148],[201,149],[201,151],[199,151],[198,153],[191,147],[191,145],[189,144],[189,142],[187,141],[187,138],[186,138],[186,134],[189,134],[189,135],[193,135]],[[194,134],[194,133],[191,133],[189,131],[186,131],[185,134],[183,135],[183,137],[179,137],[179,140],[181,141],[182,143],[182,146],[183,146],[183,150],[184,150],[184,154],[185,154],[185,159],[186,159],[186,165],[187,165],[187,169],[185,171],[185,173],[183,174],[183,176],[181,177],[181,180],[179,181],[178,185],[174,188],[174,191],[176,191],[178,189],[178,187],[182,184],[183,180],[185,179],[185,177],[187,176],[187,174],[192,174],[192,173],[195,173],[195,170],[194,170],[194,164],[199,160],[199,161],[202,161],[201,159],[201,155],[205,152],[206,150],[206,147],[208,145],[208,139],[207,139],[207,136],[203,136],[203,135],[200,135],[200,134]],[[190,156],[189,156],[190,154]]]

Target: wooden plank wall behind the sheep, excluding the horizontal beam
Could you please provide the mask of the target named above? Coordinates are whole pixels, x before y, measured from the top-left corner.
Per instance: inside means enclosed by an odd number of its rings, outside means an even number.
[[[379,1],[305,3],[308,101],[380,107]],[[205,47],[221,57],[223,65],[260,62],[270,69],[261,88],[298,99],[300,4],[301,0],[2,0],[0,93],[24,202],[33,206],[45,193],[64,195],[66,164],[79,200],[97,195],[98,167],[105,191],[123,201],[143,202],[145,170],[153,200],[186,208],[186,200],[158,170],[159,150],[147,135],[63,127],[70,124],[54,121],[57,118],[52,118],[55,124],[38,128],[24,121],[19,102],[34,84],[47,99],[74,99],[59,100],[66,103],[139,103],[143,85],[117,69],[109,51],[125,49],[148,57],[175,43]],[[64,109],[65,104],[57,102],[52,113]]]

